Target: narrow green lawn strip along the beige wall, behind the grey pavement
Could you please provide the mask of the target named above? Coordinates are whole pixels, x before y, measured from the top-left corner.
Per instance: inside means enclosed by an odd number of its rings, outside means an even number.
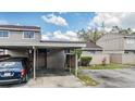
[[[82,70],[115,70],[115,68],[126,68],[127,65],[123,64],[107,64],[107,65],[91,65],[91,66],[81,66]]]

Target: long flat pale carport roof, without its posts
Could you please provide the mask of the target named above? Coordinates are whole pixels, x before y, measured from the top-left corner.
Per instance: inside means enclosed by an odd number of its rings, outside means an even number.
[[[86,42],[81,41],[42,41],[42,42],[0,42],[0,48],[83,48]]]

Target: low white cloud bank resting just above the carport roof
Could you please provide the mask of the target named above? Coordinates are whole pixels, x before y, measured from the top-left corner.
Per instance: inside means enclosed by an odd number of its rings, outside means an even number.
[[[68,30],[64,34],[62,34],[60,30],[56,30],[53,33],[47,33],[42,35],[42,40],[61,40],[61,41],[77,41],[78,37],[77,34]]]

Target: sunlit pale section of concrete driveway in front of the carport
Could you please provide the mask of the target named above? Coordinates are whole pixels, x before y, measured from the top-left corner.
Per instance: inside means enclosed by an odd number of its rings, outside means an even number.
[[[76,88],[83,87],[83,84],[74,75],[66,76],[47,76],[38,77],[36,80],[30,79],[23,87],[64,87],[64,88]]]

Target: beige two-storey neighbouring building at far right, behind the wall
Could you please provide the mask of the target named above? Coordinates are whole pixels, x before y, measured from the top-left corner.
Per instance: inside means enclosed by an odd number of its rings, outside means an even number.
[[[106,34],[97,45],[110,54],[112,63],[135,64],[135,35]]]

